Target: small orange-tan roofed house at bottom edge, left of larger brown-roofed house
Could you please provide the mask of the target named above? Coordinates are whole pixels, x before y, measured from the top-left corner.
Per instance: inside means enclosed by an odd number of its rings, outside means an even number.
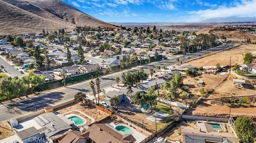
[[[86,143],[86,138],[80,131],[68,131],[68,134],[59,143]]]

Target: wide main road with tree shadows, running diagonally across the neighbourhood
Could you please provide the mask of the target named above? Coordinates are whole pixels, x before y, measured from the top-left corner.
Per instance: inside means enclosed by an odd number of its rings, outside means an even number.
[[[226,46],[216,47],[216,48],[212,48],[211,50],[212,50],[212,52],[213,51],[216,52],[216,51],[228,48],[228,47],[229,46],[227,45],[227,47]],[[200,57],[201,55],[202,56],[206,55],[208,53],[210,53],[210,50],[194,53],[189,56],[191,57],[191,59],[194,59],[194,58]],[[183,56],[181,55],[180,59],[182,57]],[[185,61],[188,61],[191,59],[185,58]],[[164,60],[164,61],[153,63],[150,65],[150,67],[155,67],[158,65],[168,67],[171,65],[176,65],[177,63],[178,62],[176,61],[176,58],[174,58],[174,59],[169,59],[169,60]],[[144,68],[145,72],[148,72],[148,67],[149,67],[148,65],[144,65],[142,67]],[[134,68],[134,69],[130,70],[130,72],[135,73],[135,72],[138,72],[138,70],[139,70],[139,68]],[[106,87],[109,87],[110,85],[116,84],[116,82],[114,81],[114,78],[117,76],[120,77],[121,72],[117,72],[114,74],[110,74],[110,75],[101,77],[100,78],[100,80],[101,80],[100,87],[106,88]],[[37,98],[34,98],[34,99],[29,98],[28,100],[25,100],[25,101],[13,102],[12,104],[1,106],[0,107],[0,121],[14,118],[14,117],[20,116],[21,114],[33,112],[35,110],[39,110],[44,107],[54,105],[56,103],[60,103],[60,102],[64,102],[64,101],[73,99],[74,94],[76,94],[76,92],[85,92],[90,99],[94,98],[94,96],[89,95],[89,92],[91,92],[91,89],[88,85],[88,81],[86,81],[85,83],[82,83],[82,84],[74,84],[74,85],[70,86],[70,88],[63,88],[63,89],[55,91],[55,92],[40,94],[40,95],[38,95]]]

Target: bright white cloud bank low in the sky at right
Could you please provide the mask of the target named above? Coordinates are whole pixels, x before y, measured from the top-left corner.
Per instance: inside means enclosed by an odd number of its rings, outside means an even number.
[[[255,16],[256,5],[254,0],[242,1],[242,3],[236,3],[233,7],[219,6],[216,9],[207,9],[207,10],[198,10],[187,12],[189,18],[186,21],[193,20],[204,20],[209,18],[218,18],[218,17],[230,17],[230,16]]]

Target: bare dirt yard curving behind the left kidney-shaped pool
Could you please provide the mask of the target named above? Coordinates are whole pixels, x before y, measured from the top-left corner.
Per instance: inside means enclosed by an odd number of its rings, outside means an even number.
[[[105,113],[105,112],[103,112],[101,110],[98,110],[98,109],[96,109],[94,107],[82,106],[80,103],[66,105],[66,106],[63,106],[61,108],[57,108],[54,111],[58,112],[59,114],[65,114],[65,113],[67,113],[69,111],[72,111],[72,110],[79,110],[79,111],[87,114],[88,116],[91,116],[92,118],[94,118],[95,121],[100,121],[101,119],[104,119],[107,116],[110,116],[109,114],[107,114],[107,113]],[[84,117],[84,116],[82,116],[82,117]],[[86,120],[87,119],[88,118],[86,118]],[[87,122],[89,122],[89,121],[87,120]]]

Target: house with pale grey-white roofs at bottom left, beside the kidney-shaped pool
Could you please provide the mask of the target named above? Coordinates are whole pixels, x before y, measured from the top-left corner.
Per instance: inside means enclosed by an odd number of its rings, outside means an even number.
[[[41,114],[32,120],[34,122],[32,127],[22,130],[19,129],[19,125],[14,127],[16,130],[20,130],[16,132],[16,135],[22,143],[33,142],[42,137],[53,143],[56,137],[62,136],[63,133],[75,127],[73,121],[63,115],[57,116],[53,112]]]

